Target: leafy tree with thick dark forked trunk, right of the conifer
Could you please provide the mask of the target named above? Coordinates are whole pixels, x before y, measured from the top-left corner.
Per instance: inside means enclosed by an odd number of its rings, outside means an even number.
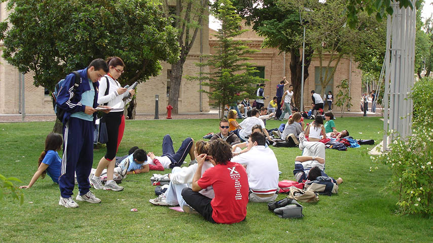
[[[235,0],[237,12],[252,25],[252,29],[265,37],[263,47],[278,48],[290,53],[291,83],[296,104],[301,103],[302,82],[308,78],[313,49],[305,44],[304,80],[302,79],[302,33],[300,12],[297,8],[285,8],[274,0]],[[305,23],[304,23],[305,24]]]

